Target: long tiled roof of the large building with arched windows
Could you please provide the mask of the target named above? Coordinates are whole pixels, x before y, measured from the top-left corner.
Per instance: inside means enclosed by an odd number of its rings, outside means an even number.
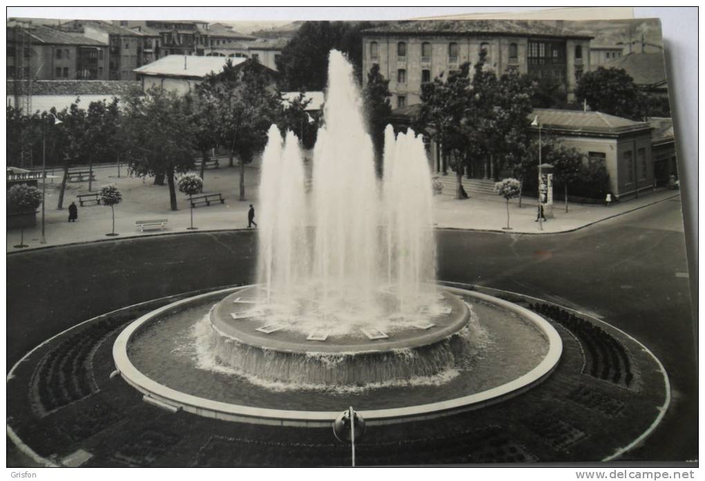
[[[591,39],[547,23],[528,20],[407,20],[362,31],[363,35],[513,35]]]

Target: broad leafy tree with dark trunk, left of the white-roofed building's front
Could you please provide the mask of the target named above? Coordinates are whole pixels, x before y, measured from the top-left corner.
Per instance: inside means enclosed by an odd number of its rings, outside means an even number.
[[[123,132],[130,146],[130,171],[143,177],[164,176],[171,210],[177,210],[174,177],[195,166],[189,101],[158,87],[147,90],[143,97],[129,95],[124,99]]]

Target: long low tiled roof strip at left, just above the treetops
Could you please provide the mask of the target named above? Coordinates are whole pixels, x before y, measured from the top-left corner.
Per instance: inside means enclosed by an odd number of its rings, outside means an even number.
[[[15,80],[7,80],[7,93],[13,95]],[[20,94],[24,95],[25,83],[20,82]],[[34,80],[32,95],[126,95],[131,90],[141,90],[137,80]]]

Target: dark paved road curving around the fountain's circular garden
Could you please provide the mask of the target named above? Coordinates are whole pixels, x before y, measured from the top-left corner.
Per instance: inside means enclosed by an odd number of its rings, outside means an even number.
[[[129,303],[251,279],[253,231],[106,241],[8,255],[8,369],[37,343]],[[697,458],[697,367],[680,202],[573,233],[439,231],[439,277],[590,312],[666,366],[673,403],[642,460]]]

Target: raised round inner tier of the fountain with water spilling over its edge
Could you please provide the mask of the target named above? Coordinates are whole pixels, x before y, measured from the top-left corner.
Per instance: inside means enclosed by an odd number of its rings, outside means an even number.
[[[416,322],[400,321],[384,331],[362,322],[333,334],[271,324],[264,309],[252,307],[255,296],[255,288],[238,291],[210,312],[214,354],[248,377],[321,388],[384,384],[439,375],[472,354],[462,331],[470,310],[446,291],[434,305],[439,310]]]

